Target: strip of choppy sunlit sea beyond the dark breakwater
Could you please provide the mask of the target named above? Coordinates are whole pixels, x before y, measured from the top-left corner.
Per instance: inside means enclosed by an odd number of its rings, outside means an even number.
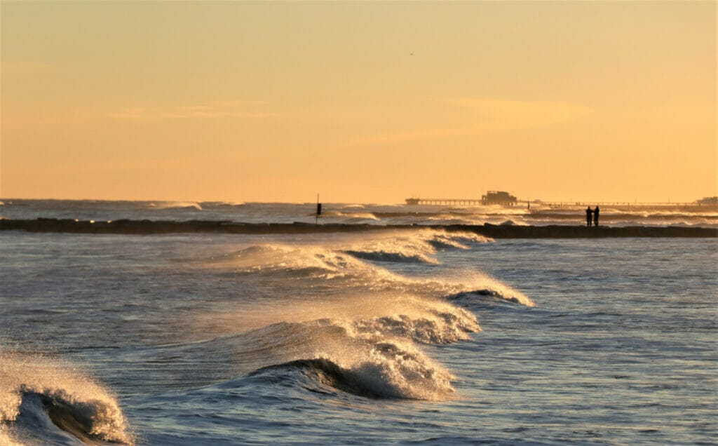
[[[600,205],[600,223],[610,226],[700,226],[718,228],[711,205]],[[584,225],[586,204],[519,203],[439,206],[324,203],[322,223],[372,225]],[[229,203],[184,201],[0,200],[0,218],[80,220],[215,220],[244,223],[314,223],[316,203]]]

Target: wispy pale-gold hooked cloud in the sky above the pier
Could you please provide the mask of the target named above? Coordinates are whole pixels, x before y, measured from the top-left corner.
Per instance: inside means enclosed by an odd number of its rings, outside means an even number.
[[[368,146],[410,141],[475,136],[498,131],[531,129],[572,121],[590,113],[587,106],[552,101],[508,101],[504,99],[449,98],[435,100],[462,107],[477,116],[475,124],[382,134],[357,139],[349,146]]]

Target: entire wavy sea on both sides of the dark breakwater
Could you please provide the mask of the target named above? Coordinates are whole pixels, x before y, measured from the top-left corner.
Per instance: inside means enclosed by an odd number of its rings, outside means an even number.
[[[314,222],[6,200],[4,218]],[[0,444],[718,444],[718,239],[491,240],[576,208],[325,204],[402,231],[0,232]],[[602,207],[602,223],[718,227]]]

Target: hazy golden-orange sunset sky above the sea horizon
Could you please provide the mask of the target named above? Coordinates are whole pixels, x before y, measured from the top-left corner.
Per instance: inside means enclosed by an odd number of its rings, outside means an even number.
[[[0,3],[0,198],[718,195],[716,1]]]

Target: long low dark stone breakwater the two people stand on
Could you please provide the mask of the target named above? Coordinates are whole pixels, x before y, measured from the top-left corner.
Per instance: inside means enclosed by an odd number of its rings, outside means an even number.
[[[93,233],[93,234],[168,234],[231,233],[288,234],[409,230],[417,228],[467,231],[491,238],[602,238],[602,237],[718,237],[718,228],[684,226],[497,226],[483,225],[368,225],[329,223],[236,223],[212,220],[73,220],[37,218],[36,220],[0,219],[0,231]]]

